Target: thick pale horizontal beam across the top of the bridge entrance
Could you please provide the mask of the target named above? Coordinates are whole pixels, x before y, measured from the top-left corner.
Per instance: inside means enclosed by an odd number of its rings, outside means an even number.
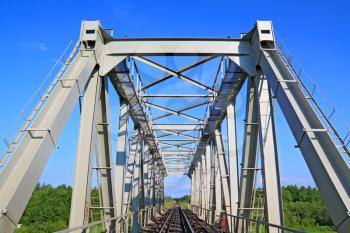
[[[117,38],[105,45],[106,56],[247,56],[250,41],[228,38]]]

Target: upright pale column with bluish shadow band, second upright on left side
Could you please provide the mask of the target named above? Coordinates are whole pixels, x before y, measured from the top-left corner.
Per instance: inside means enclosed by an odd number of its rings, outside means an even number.
[[[119,110],[119,129],[118,129],[118,142],[117,142],[117,158],[115,168],[115,213],[116,216],[123,215],[123,193],[124,193],[124,176],[125,176],[125,163],[128,145],[128,105],[124,100],[120,100]],[[116,223],[116,232],[122,231],[121,220]]]

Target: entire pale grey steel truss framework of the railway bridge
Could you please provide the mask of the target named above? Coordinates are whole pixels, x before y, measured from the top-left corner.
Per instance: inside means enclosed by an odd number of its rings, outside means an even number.
[[[150,56],[199,56],[200,59],[174,70]],[[187,71],[217,58],[221,61],[213,86],[187,75]],[[143,84],[137,62],[166,75]],[[204,94],[147,92],[174,78],[201,89]],[[115,165],[109,82],[120,98]],[[235,106],[244,83],[246,120],[239,167]],[[80,97],[70,223],[64,232],[86,231],[91,226],[92,208],[101,210],[100,223],[106,232],[128,232],[129,218],[132,218],[131,231],[139,232],[161,213],[164,179],[171,174],[191,178],[192,209],[208,223],[213,224],[222,214],[249,218],[254,210],[258,170],[263,177],[264,219],[283,225],[272,98],[277,100],[288,122],[337,231],[345,233],[350,229],[350,170],[341,149],[347,155],[349,152],[344,144],[340,147],[335,144],[331,133],[336,131],[323,123],[310,103],[311,96],[305,94],[293,67],[275,43],[271,21],[257,21],[239,39],[114,38],[99,21],[83,21],[79,43],[66,66],[5,154],[9,160],[0,176],[0,232],[14,232],[17,227]],[[159,98],[200,101],[174,109],[152,101]],[[204,117],[189,113],[199,107],[206,108]],[[154,116],[151,114],[154,109],[163,113]],[[160,123],[161,119],[172,116],[186,119],[186,123]],[[221,129],[225,118],[227,147]],[[92,206],[90,198],[94,170],[101,193],[98,207]],[[227,220],[228,231],[248,231],[243,221]],[[277,230],[270,228],[269,232]]]

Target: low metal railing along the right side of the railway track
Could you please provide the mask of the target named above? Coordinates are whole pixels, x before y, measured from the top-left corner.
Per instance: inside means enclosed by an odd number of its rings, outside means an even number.
[[[193,204],[190,205],[190,208],[197,215],[198,215],[198,213],[200,213],[200,211],[207,212],[208,216],[210,214],[212,214],[212,215],[215,214],[215,210],[206,209],[206,208],[203,208],[201,206],[197,206],[197,205],[193,205]],[[243,232],[263,233],[263,232],[268,231],[268,229],[275,229],[278,233],[286,233],[286,232],[307,233],[305,231],[301,231],[301,230],[294,229],[291,227],[280,226],[280,225],[276,225],[276,224],[272,224],[272,223],[268,223],[268,222],[264,222],[264,221],[260,221],[260,220],[256,220],[256,219],[251,219],[251,218],[247,218],[247,217],[243,217],[243,216],[235,216],[235,215],[224,213],[222,215],[222,217],[223,217],[223,219],[216,219],[215,222],[218,222],[219,224],[217,226],[214,226],[220,232],[227,232],[227,228],[228,228],[227,222],[228,221],[226,221],[226,220],[228,218],[230,218],[231,219],[230,222],[232,222],[233,228],[236,229],[238,226],[238,222],[240,222],[240,226],[242,228],[241,230]],[[207,223],[209,223],[209,222],[207,222]],[[223,224],[223,223],[226,223],[226,224]]]

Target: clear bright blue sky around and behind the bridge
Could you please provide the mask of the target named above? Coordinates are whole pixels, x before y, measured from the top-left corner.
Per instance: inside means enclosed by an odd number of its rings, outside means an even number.
[[[71,40],[81,20],[99,19],[115,36],[239,37],[256,20],[273,20],[279,38],[337,111],[349,122],[350,44],[348,1],[2,1],[0,7],[0,133],[9,126]],[[240,97],[243,100],[243,97]],[[118,101],[111,100],[117,117]],[[277,109],[277,115],[281,115]],[[41,181],[72,182],[78,109]],[[238,113],[244,118],[244,111]],[[115,123],[114,123],[115,124]],[[277,119],[283,184],[314,185],[282,117]],[[280,130],[279,130],[280,129]],[[10,133],[8,133],[8,131]],[[11,138],[11,137],[10,137]],[[240,140],[240,139],[239,139]],[[4,151],[4,147],[0,147]],[[185,185],[181,185],[185,184]],[[187,178],[167,179],[167,193],[188,191]]]

